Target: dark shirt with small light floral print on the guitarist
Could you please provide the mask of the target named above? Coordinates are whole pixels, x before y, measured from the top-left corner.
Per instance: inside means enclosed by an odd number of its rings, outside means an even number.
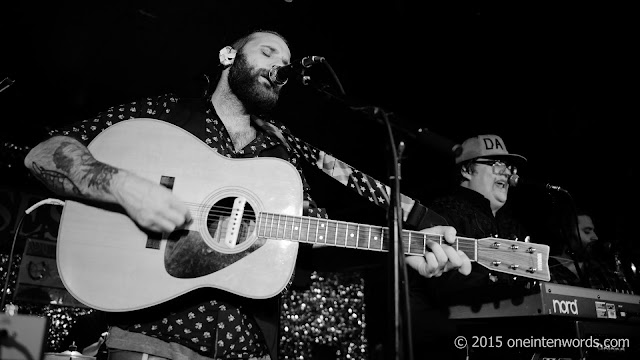
[[[52,130],[50,135],[71,136],[88,145],[107,127],[134,118],[154,118],[183,127],[216,152],[229,158],[271,156],[288,160],[298,169],[302,178],[303,200],[307,205],[305,215],[327,217],[324,209],[317,208],[309,195],[309,186],[299,166],[299,155],[288,151],[289,146],[283,140],[282,133],[289,134],[289,130],[284,125],[274,120],[254,123],[256,138],[236,151],[210,101],[181,100],[165,94],[112,107],[93,119]],[[242,359],[262,357],[269,352],[274,354],[274,350],[265,345],[264,329],[260,331],[252,311],[248,310],[251,306],[244,305],[243,300],[246,299],[220,294],[214,289],[200,290],[202,291],[196,290],[176,299],[180,301],[171,301],[170,306],[162,304],[124,316],[117,314],[112,319],[126,331],[178,343],[211,358]]]

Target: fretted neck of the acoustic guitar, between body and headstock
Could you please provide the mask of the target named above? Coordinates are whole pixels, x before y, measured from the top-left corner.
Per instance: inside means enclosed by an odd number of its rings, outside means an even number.
[[[257,217],[256,229],[258,236],[274,240],[382,252],[389,251],[391,245],[391,233],[387,227],[308,216],[260,213]],[[402,231],[402,248],[407,255],[424,255],[428,251],[427,240],[442,244],[444,238],[437,234]],[[477,261],[478,241],[476,239],[456,237],[451,246],[462,250],[471,261]]]

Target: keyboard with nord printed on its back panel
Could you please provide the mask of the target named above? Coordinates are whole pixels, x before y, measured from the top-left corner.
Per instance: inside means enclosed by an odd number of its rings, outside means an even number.
[[[640,323],[640,296],[542,282],[540,292],[517,300],[451,306],[450,318],[569,316]]]

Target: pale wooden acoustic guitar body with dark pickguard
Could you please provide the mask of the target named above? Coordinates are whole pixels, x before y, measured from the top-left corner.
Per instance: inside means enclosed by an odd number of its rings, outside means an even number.
[[[120,207],[67,201],[57,262],[76,299],[99,310],[131,311],[200,287],[269,298],[287,285],[297,242],[258,237],[251,219],[262,212],[302,214],[302,182],[290,163],[229,159],[187,131],[153,119],[117,123],[89,149],[99,161],[171,188],[194,220],[171,234],[153,234]],[[229,235],[234,215],[242,219],[239,235]]]

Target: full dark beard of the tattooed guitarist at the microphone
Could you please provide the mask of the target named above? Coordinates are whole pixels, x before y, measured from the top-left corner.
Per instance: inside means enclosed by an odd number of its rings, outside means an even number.
[[[280,93],[280,88],[262,84],[260,76],[268,78],[269,70],[252,68],[246,56],[238,52],[229,69],[229,87],[247,112],[253,115],[265,115],[273,110]]]

